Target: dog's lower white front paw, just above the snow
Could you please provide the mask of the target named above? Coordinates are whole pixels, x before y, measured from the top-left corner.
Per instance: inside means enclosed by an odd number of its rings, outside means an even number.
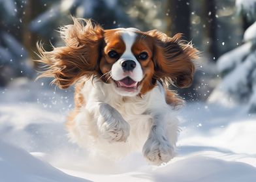
[[[174,157],[174,148],[164,137],[161,140],[159,138],[148,138],[142,151],[146,160],[157,166],[170,161]]]

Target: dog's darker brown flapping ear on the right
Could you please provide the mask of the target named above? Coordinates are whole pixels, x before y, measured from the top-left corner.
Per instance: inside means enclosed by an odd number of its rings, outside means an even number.
[[[195,73],[194,60],[199,59],[199,51],[191,44],[180,40],[182,34],[172,38],[157,30],[146,32],[152,36],[153,62],[155,64],[155,79],[171,79],[179,88],[185,88],[193,82]]]

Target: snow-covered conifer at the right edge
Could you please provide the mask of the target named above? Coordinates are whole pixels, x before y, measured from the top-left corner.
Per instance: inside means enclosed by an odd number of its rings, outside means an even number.
[[[256,0],[237,0],[236,6],[249,22],[255,22],[244,32],[244,44],[217,60],[223,80],[208,100],[225,105],[248,103],[248,112],[256,112]]]

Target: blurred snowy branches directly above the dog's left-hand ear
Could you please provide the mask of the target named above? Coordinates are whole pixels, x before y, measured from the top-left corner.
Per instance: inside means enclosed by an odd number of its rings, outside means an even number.
[[[131,25],[127,14],[120,8],[118,1],[103,0],[57,0],[45,4],[46,10],[39,14],[29,27],[31,31],[50,40],[57,42],[56,31],[59,27],[71,23],[71,15],[78,18],[92,18],[105,29]],[[121,24],[121,25],[120,25]]]

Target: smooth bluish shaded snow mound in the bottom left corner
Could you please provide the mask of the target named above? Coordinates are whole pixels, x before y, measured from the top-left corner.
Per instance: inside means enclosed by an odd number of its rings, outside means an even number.
[[[27,151],[0,141],[0,181],[85,181],[72,177],[33,157]]]

